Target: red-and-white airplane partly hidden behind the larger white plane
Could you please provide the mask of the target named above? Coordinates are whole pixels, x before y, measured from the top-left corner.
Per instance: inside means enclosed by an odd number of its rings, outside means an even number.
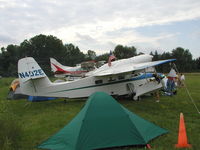
[[[83,76],[87,70],[81,68],[81,66],[69,67],[60,64],[54,58],[50,58],[51,70],[54,72],[55,77],[66,77],[66,76]]]

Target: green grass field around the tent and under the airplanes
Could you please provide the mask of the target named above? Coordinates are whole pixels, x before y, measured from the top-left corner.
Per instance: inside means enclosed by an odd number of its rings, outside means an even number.
[[[45,102],[8,101],[6,97],[11,81],[12,78],[0,79],[0,149],[3,150],[36,149],[37,144],[65,126],[85,104],[84,100],[68,100],[65,103],[64,99]],[[200,74],[187,74],[186,85],[200,109]],[[169,130],[168,134],[150,142],[156,150],[175,149],[179,115],[183,112],[191,149],[199,149],[200,114],[184,88],[179,88],[176,96],[161,96],[159,103],[153,97],[142,97],[137,102],[126,99],[118,102],[146,120]]]

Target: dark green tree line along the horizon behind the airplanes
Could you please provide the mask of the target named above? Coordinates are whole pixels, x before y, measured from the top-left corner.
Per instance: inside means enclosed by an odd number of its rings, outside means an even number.
[[[141,53],[137,53],[134,46],[128,47],[117,45],[113,51],[117,59],[130,58]],[[153,60],[175,58],[176,66],[180,72],[199,72],[200,57],[192,58],[192,54],[188,49],[178,47],[172,52],[164,52],[158,54],[155,50],[150,53]],[[52,75],[49,58],[57,59],[61,64],[67,66],[75,66],[78,63],[88,60],[108,60],[109,52],[96,55],[95,51],[88,50],[86,54],[80,51],[78,46],[73,44],[63,44],[63,42],[52,35],[36,35],[29,40],[24,40],[19,45],[10,44],[6,48],[1,47],[0,52],[0,76],[17,76],[17,62],[23,57],[33,57],[39,63],[41,68],[47,75]],[[166,72],[169,65],[159,66],[158,71]]]

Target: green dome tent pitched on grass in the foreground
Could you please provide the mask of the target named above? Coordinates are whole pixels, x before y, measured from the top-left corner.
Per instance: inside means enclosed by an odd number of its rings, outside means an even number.
[[[108,94],[96,92],[68,125],[38,148],[90,150],[146,145],[167,132],[130,112]]]

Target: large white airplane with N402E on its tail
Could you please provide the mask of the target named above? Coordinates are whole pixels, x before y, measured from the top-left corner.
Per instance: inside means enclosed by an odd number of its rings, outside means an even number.
[[[152,61],[151,55],[143,54],[116,60],[110,66],[104,64],[74,81],[52,83],[32,57],[18,61],[18,76],[23,93],[31,96],[82,98],[103,91],[114,96],[131,95],[138,100],[143,94],[163,87],[154,73],[145,69],[175,61],[175,59]],[[165,77],[166,78],[166,77]]]

